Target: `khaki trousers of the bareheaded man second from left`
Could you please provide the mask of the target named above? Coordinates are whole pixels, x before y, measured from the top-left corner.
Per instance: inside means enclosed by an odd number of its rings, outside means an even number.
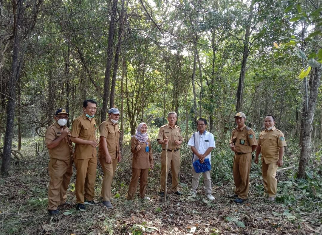
[[[96,179],[97,158],[76,159],[76,203],[84,204],[84,199],[94,200],[94,184]],[[83,192],[85,191],[85,194]],[[85,198],[84,198],[85,197]]]

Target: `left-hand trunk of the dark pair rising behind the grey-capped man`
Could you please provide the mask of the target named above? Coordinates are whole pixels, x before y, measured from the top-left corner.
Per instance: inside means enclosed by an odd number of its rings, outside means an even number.
[[[115,18],[117,13],[117,4],[118,0],[113,0],[112,4],[112,11],[111,11],[111,21],[109,23],[109,38],[107,44],[107,60],[105,66],[105,74],[104,74],[104,91],[103,91],[103,104],[102,104],[102,111],[101,111],[101,122],[106,120],[106,113],[107,113],[107,103],[109,97],[109,76],[111,72],[111,64],[112,64],[112,57],[113,57],[113,40],[114,40],[114,33],[115,33]]]

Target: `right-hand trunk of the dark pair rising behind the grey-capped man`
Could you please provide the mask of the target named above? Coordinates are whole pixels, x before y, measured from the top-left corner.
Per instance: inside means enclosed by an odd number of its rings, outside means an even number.
[[[113,108],[114,107],[114,95],[115,95],[115,83],[116,83],[116,74],[118,71],[118,58],[120,55],[120,51],[121,51],[121,43],[122,43],[122,35],[123,35],[123,28],[124,28],[124,0],[122,0],[122,11],[121,11],[121,15],[119,17],[119,22],[120,22],[120,26],[119,26],[119,32],[118,32],[118,44],[116,46],[116,52],[115,52],[115,59],[114,59],[114,69],[113,69],[113,77],[112,77],[112,83],[111,83],[111,96],[110,96],[110,101],[109,101],[109,108]]]

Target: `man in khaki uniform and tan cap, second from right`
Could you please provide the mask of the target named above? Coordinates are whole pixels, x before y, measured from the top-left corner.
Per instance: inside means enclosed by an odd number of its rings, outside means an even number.
[[[232,130],[229,141],[234,151],[233,176],[235,182],[235,203],[243,203],[249,191],[249,172],[251,170],[251,153],[256,149],[257,140],[251,128],[245,125],[245,113],[236,113],[234,116],[237,127]]]

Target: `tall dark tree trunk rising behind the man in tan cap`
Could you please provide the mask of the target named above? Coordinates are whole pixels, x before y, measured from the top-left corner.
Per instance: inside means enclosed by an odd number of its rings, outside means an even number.
[[[239,82],[238,82],[238,89],[237,89],[237,102],[236,102],[237,113],[242,111],[242,105],[243,105],[242,98],[243,98],[244,80],[245,80],[245,74],[246,74],[246,65],[247,65],[247,59],[249,55],[249,38],[251,35],[251,18],[252,18],[253,8],[254,8],[254,0],[251,1],[249,15],[246,22],[244,50],[242,55],[242,67],[239,75]]]

